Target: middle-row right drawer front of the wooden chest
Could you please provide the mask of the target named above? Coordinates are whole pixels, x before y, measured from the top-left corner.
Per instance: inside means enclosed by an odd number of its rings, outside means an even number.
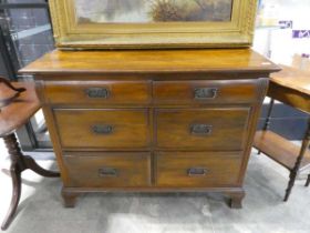
[[[156,144],[162,149],[242,150],[248,108],[158,109]]]

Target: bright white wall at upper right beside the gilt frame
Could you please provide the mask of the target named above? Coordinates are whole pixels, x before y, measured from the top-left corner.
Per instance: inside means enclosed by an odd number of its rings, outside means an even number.
[[[310,0],[262,0],[262,16],[276,18],[277,21],[292,20],[293,24],[292,29],[258,26],[254,49],[283,64],[291,64],[296,53],[310,54],[310,38],[292,38],[292,30],[310,30]]]

